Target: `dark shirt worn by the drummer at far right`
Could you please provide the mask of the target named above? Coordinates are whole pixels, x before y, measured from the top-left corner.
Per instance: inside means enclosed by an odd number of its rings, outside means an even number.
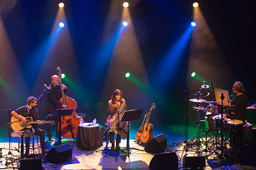
[[[231,110],[232,112],[235,112],[235,116],[233,119],[245,121],[247,106],[246,95],[243,93],[241,95],[235,96],[235,98],[231,101],[231,105],[235,105],[234,109]]]

